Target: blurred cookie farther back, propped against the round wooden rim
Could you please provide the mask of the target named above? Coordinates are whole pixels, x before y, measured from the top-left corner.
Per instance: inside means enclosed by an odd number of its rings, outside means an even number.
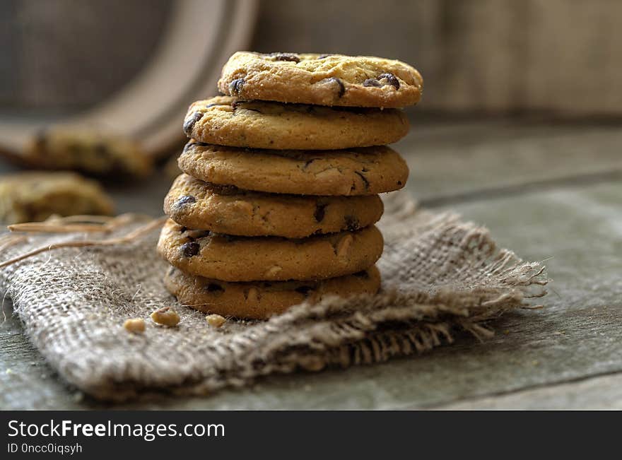
[[[37,169],[75,170],[98,177],[145,177],[153,169],[138,143],[70,126],[40,131],[25,147],[23,159]]]

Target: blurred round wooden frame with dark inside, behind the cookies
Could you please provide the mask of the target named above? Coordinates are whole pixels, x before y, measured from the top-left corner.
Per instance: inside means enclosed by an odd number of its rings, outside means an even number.
[[[153,155],[181,141],[187,107],[216,93],[245,49],[255,0],[0,2],[0,151],[49,123],[138,138]],[[7,52],[4,52],[4,50]]]

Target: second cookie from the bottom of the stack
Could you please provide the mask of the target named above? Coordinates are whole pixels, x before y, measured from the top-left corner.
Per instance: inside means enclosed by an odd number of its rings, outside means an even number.
[[[158,252],[172,266],[196,276],[222,281],[317,280],[356,273],[382,254],[375,226],[289,240],[239,237],[190,230],[168,220]]]

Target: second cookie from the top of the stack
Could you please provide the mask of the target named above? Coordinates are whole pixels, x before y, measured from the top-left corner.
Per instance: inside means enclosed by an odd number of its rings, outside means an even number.
[[[194,102],[184,119],[188,137],[221,146],[328,150],[384,146],[406,136],[398,109],[245,102],[217,96]]]

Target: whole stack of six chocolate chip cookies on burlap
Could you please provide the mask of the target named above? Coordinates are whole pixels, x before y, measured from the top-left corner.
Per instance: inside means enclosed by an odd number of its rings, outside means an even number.
[[[165,284],[185,305],[264,319],[326,295],[376,293],[378,194],[409,175],[419,73],[375,57],[238,52],[225,95],[194,102],[164,210]]]

